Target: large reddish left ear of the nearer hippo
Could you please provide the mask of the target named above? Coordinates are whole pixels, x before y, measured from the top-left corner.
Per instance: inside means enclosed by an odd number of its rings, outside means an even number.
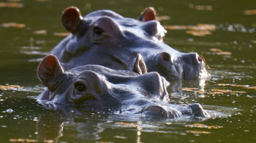
[[[38,67],[38,77],[48,89],[53,92],[56,80],[63,74],[64,70],[59,60],[54,55],[45,57]]]

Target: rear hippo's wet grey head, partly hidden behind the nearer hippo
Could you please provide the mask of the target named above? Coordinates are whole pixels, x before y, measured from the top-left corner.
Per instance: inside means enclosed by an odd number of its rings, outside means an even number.
[[[197,53],[181,53],[163,43],[166,30],[151,7],[138,20],[110,10],[94,11],[83,18],[76,7],[65,9],[61,19],[71,34],[49,54],[56,55],[65,70],[82,65],[131,70],[140,53],[148,71],[156,71],[167,80],[209,76]]]

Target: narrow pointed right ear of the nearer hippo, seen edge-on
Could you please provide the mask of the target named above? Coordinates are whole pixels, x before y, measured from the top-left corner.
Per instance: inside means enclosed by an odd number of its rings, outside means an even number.
[[[144,62],[144,59],[140,54],[137,55],[137,58],[135,60],[135,63],[133,65],[132,71],[135,71],[138,74],[144,74],[147,73],[147,67]]]

